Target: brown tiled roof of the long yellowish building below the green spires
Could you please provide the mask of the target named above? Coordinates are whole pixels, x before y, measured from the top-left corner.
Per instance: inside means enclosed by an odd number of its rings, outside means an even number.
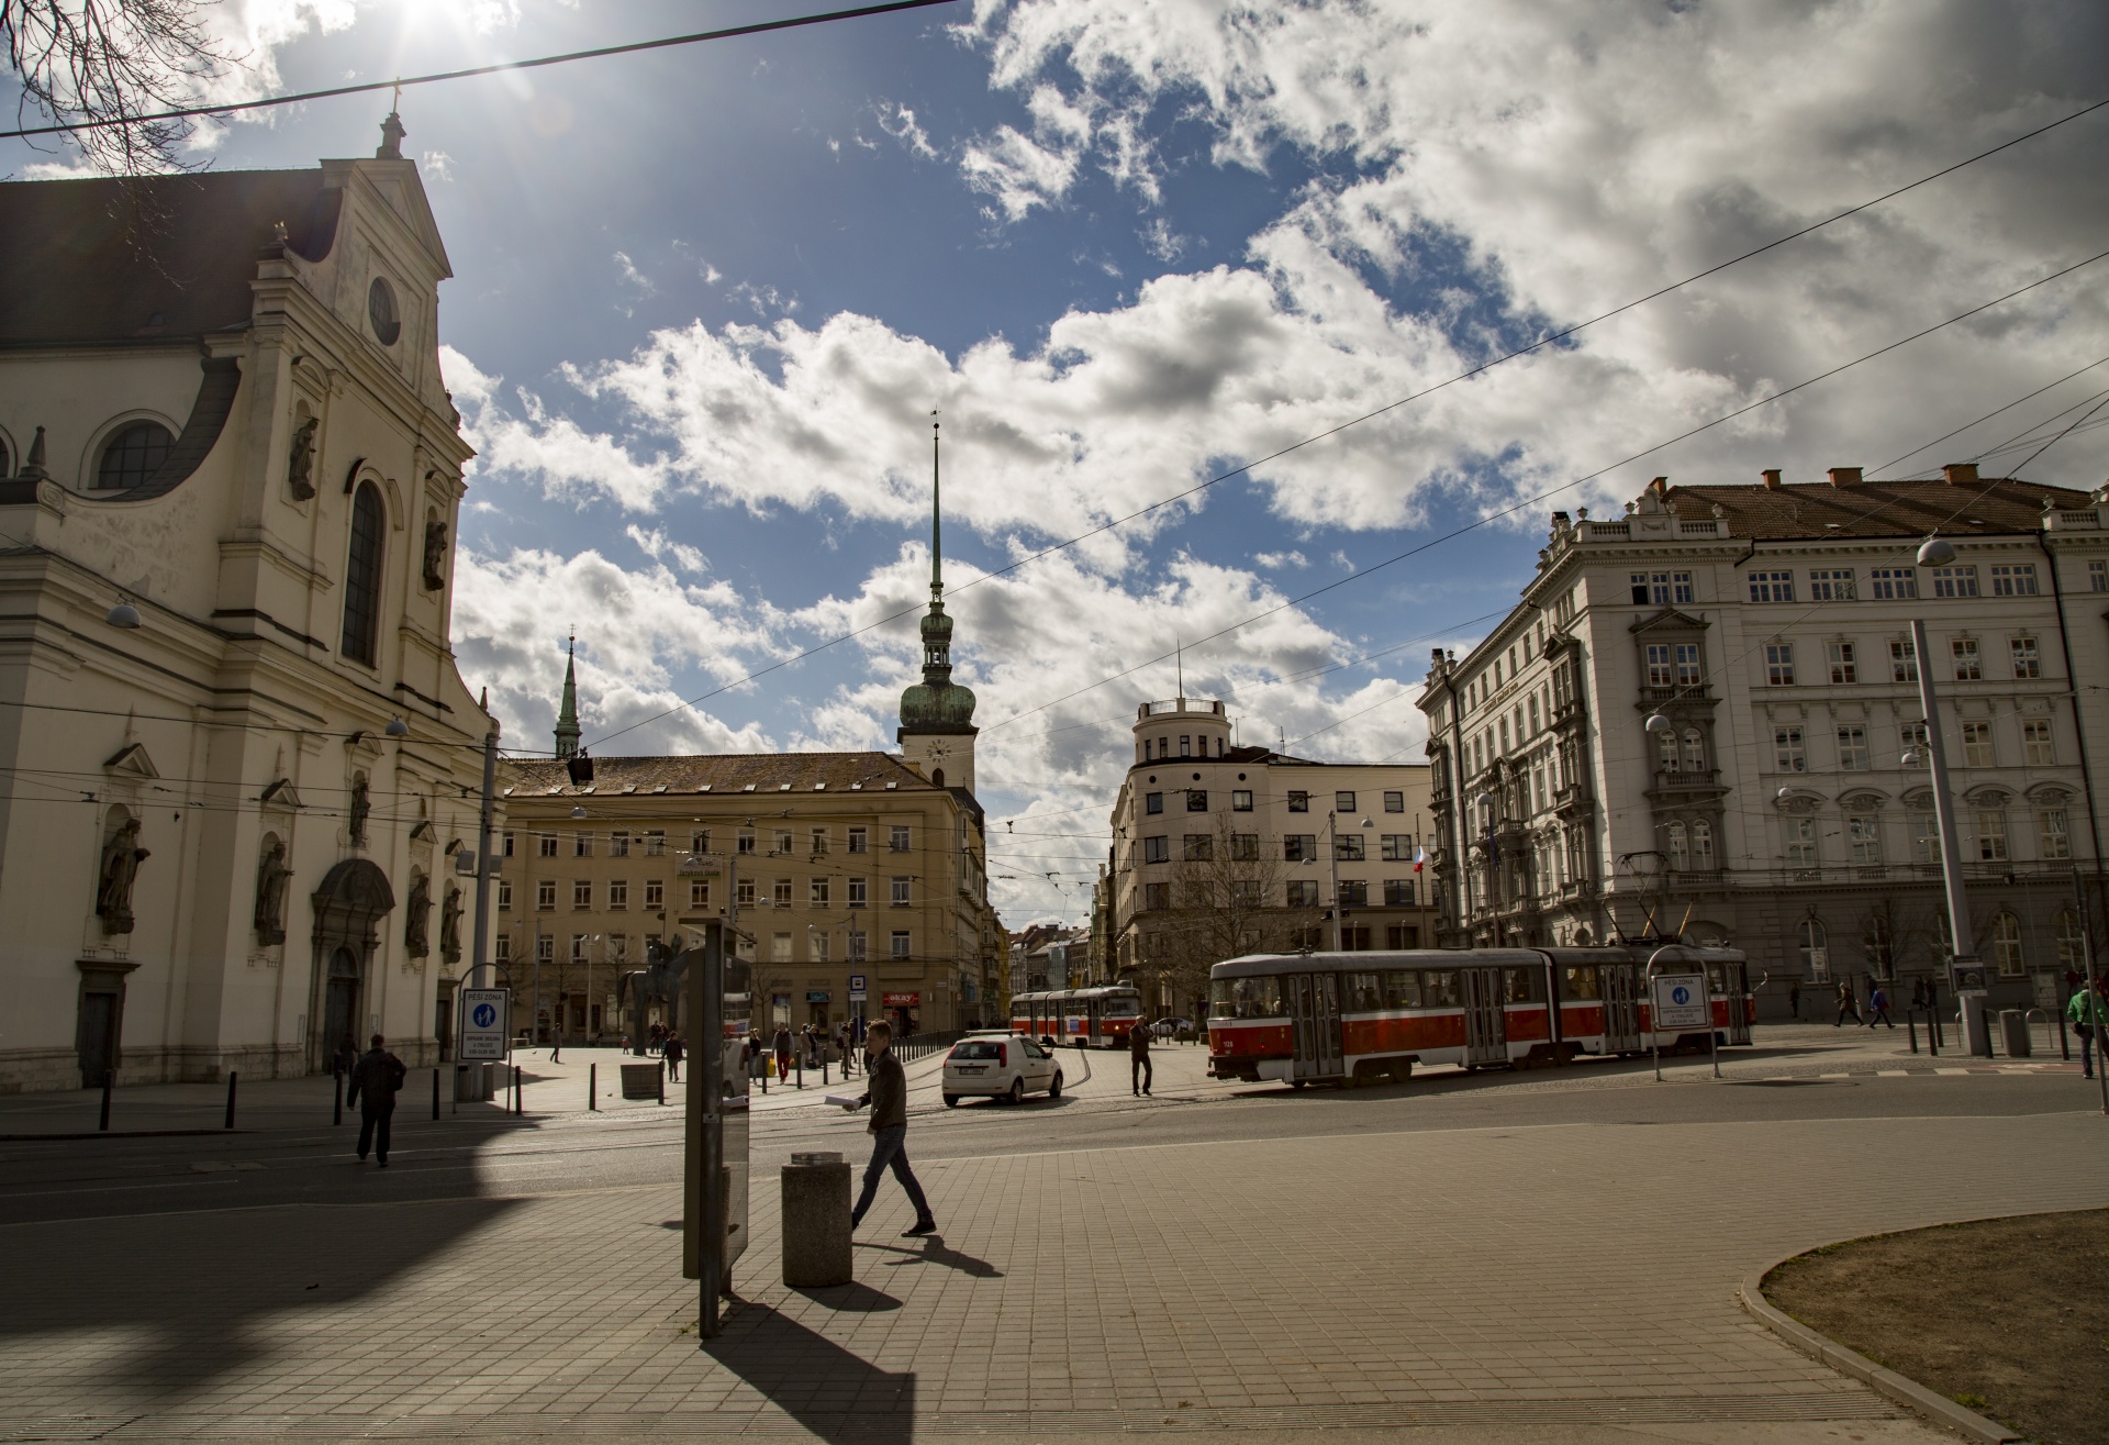
[[[888,783],[892,789],[888,789]],[[572,785],[565,764],[534,757],[504,764],[500,789],[515,804],[536,797],[650,797],[654,793],[943,793],[890,753],[692,753],[683,757],[595,757],[593,783]]]

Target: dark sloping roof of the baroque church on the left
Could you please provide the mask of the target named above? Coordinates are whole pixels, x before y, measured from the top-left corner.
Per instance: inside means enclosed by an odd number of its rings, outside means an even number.
[[[342,200],[321,167],[0,184],[0,346],[240,329],[272,226],[318,262]]]

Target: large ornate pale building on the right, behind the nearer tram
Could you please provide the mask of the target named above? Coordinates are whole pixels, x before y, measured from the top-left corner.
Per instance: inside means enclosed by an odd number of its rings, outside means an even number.
[[[1936,529],[1953,567],[1915,563]],[[1974,466],[1658,479],[1618,521],[1554,513],[1523,603],[1421,696],[1445,941],[1683,932],[1746,949],[1776,994],[1938,970],[1932,793],[1904,764],[1930,667],[1972,943],[1999,998],[2052,998],[2082,966],[2075,886],[2101,937],[2109,717],[2073,677],[2109,675],[2105,593],[2101,494]]]

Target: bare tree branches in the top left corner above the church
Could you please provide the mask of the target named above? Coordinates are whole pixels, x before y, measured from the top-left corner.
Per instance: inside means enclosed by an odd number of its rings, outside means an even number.
[[[99,171],[196,169],[186,120],[148,120],[196,103],[236,63],[205,15],[215,0],[0,0],[0,40],[21,82],[17,122],[80,127],[74,146]]]

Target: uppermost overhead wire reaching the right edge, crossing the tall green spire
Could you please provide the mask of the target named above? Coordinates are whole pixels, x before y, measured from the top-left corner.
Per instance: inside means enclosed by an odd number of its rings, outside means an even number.
[[[1141,517],[1158,513],[1158,510],[1162,510],[1162,508],[1166,508],[1166,506],[1170,506],[1175,502],[1183,502],[1185,498],[1198,496],[1200,492],[1206,492],[1206,489],[1211,489],[1211,487],[1215,487],[1219,483],[1225,483],[1225,481],[1230,481],[1234,477],[1244,477],[1246,473],[1251,473],[1251,470],[1255,470],[1259,466],[1265,466],[1268,462],[1276,462],[1276,460],[1289,456],[1291,451],[1299,451],[1299,449],[1310,447],[1310,445],[1314,445],[1318,441],[1324,441],[1329,437],[1337,437],[1339,432],[1343,432],[1343,430],[1348,430],[1352,426],[1360,426],[1362,422],[1369,422],[1369,420],[1375,420],[1375,418],[1386,416],[1390,411],[1396,411],[1398,407],[1405,407],[1405,405],[1411,405],[1415,401],[1421,401],[1424,397],[1432,397],[1434,392],[1438,392],[1438,390],[1443,390],[1447,386],[1455,386],[1457,382],[1472,380],[1474,375],[1483,375],[1483,373],[1491,371],[1493,367],[1499,367],[1499,365],[1504,365],[1508,361],[1516,361],[1518,357],[1527,357],[1531,352],[1537,352],[1537,350],[1542,350],[1546,346],[1552,346],[1554,342],[1563,342],[1563,340],[1567,340],[1571,335],[1578,335],[1580,331],[1586,331],[1588,327],[1594,327],[1594,325],[1599,325],[1603,321],[1609,321],[1609,319],[1620,316],[1620,314],[1624,314],[1628,310],[1634,310],[1637,306],[1645,306],[1647,302],[1653,302],[1658,297],[1670,295],[1672,291],[1681,291],[1683,287],[1689,287],[1689,285],[1694,285],[1698,281],[1704,281],[1706,276],[1715,276],[1715,274],[1731,268],[1731,266],[1740,266],[1742,262],[1748,262],[1748,259],[1753,259],[1757,255],[1763,255],[1763,253],[1767,253],[1767,251],[1772,251],[1776,247],[1782,247],[1782,245],[1786,245],[1791,240],[1801,240],[1803,236],[1810,236],[1810,234],[1814,234],[1818,230],[1824,230],[1826,226],[1835,226],[1837,221],[1843,221],[1843,219],[1850,219],[1854,215],[1860,215],[1862,211],[1869,211],[1871,207],[1879,207],[1885,200],[1894,200],[1894,198],[1898,198],[1898,196],[1902,196],[1907,192],[1917,190],[1919,186],[1930,186],[1932,181],[1938,181],[1938,179],[1942,179],[1947,175],[1955,175],[1957,171],[1961,171],[1966,167],[1972,167],[1978,160],[1987,160],[1991,156],[1997,156],[2004,150],[2020,146],[2023,141],[2031,141],[2031,139],[2035,139],[2039,135],[2056,131],[2063,124],[2071,124],[2073,120],[2079,120],[2084,116],[2092,116],[2094,112],[2103,110],[2105,105],[2109,105],[2109,99],[2094,101],[2090,105],[2082,105],[2079,110],[2075,110],[2075,112],[2071,112],[2067,116],[2060,116],[2058,120],[2050,120],[2046,124],[2039,124],[2033,131],[2023,131],[2020,135],[2016,135],[2012,139],[2006,139],[2006,141],[1999,141],[1997,146],[1993,146],[1989,150],[1980,150],[1974,156],[1966,156],[1963,160],[1957,160],[1957,162],[1953,162],[1949,167],[1942,167],[1940,171],[1932,171],[1930,175],[1921,175],[1915,181],[1907,181],[1904,186],[1896,186],[1892,190],[1885,190],[1879,196],[1871,196],[1869,200],[1862,200],[1858,205],[1845,207],[1843,211],[1826,215],[1820,221],[1812,221],[1810,226],[1803,226],[1801,230],[1793,230],[1793,232],[1788,232],[1784,236],[1776,236],[1774,240],[1767,240],[1767,243],[1763,243],[1759,247],[1742,251],[1740,255],[1731,255],[1729,259],[1719,262],[1715,266],[1708,266],[1706,270],[1694,272],[1694,274],[1685,276],[1683,281],[1672,281],[1670,285],[1658,287],[1658,289],[1653,289],[1653,291],[1649,291],[1645,295],[1637,295],[1630,302],[1613,306],[1611,310],[1605,310],[1605,312],[1599,312],[1594,316],[1588,316],[1586,321],[1578,321],[1571,327],[1565,327],[1561,331],[1550,331],[1550,333],[1542,335],[1540,340],[1531,342],[1529,346],[1518,346],[1518,348],[1514,348],[1510,352],[1493,357],[1491,361],[1483,361],[1481,365],[1474,365],[1474,367],[1468,367],[1464,371],[1457,371],[1455,375],[1449,375],[1449,378],[1445,378],[1440,382],[1424,386],[1421,390],[1411,392],[1407,397],[1400,397],[1398,401],[1392,401],[1392,403],[1386,403],[1386,405],[1381,405],[1381,407],[1377,407],[1373,411],[1365,411],[1360,416],[1348,418],[1346,422],[1341,422],[1337,426],[1329,426],[1322,432],[1314,432],[1310,437],[1303,437],[1301,441],[1293,441],[1286,447],[1280,447],[1278,451],[1270,451],[1265,456],[1259,456],[1259,458],[1253,458],[1253,460],[1242,462],[1238,466],[1232,466],[1227,470],[1221,470],[1215,477],[1208,477],[1208,479],[1204,479],[1204,481],[1200,481],[1200,483],[1196,483],[1196,485],[1192,485],[1192,487],[1187,487],[1183,492],[1175,492],[1173,496],[1162,498],[1158,502],[1152,502],[1149,506],[1137,508],[1137,510],[1133,510],[1133,513],[1128,513],[1124,517],[1114,517],[1114,519],[1109,519],[1109,521],[1105,521],[1105,523],[1101,523],[1097,527],[1090,527],[1088,532],[1080,532],[1080,534],[1063,540],[1063,542],[1054,542],[1050,546],[1044,546],[1038,553],[1027,553],[1025,557],[1019,557],[1017,561],[1010,561],[1010,563],[1006,563],[1002,567],[995,567],[991,572],[983,572],[981,576],[976,576],[976,578],[972,578],[968,582],[960,582],[957,586],[945,589],[945,597],[955,597],[955,595],[960,595],[964,591],[981,586],[983,582],[1008,576],[1008,574],[1012,574],[1012,572],[1017,572],[1021,567],[1029,567],[1031,563],[1042,561],[1044,557],[1052,557],[1054,553],[1069,551],[1071,546],[1088,542],[1095,536],[1101,536],[1105,532],[1114,532],[1118,527],[1124,527],[1130,521],[1137,521]],[[1645,451],[1639,454],[1639,456],[1645,456]],[[863,637],[865,633],[871,633],[871,631],[877,631],[882,627],[888,627],[890,622],[898,622],[901,618],[915,616],[917,612],[922,612],[922,603],[915,603],[911,608],[903,608],[901,612],[892,612],[892,614],[888,614],[884,618],[877,618],[875,622],[867,622],[865,627],[856,627],[856,629],[850,629],[850,631],[839,633],[835,637],[829,637],[827,641],[814,643],[812,648],[806,648],[804,652],[797,652],[797,654],[793,654],[789,658],[780,658],[778,662],[772,662],[768,667],[755,669],[753,673],[747,673],[744,677],[736,677],[734,681],[721,683],[717,688],[711,688],[709,692],[702,692],[702,694],[698,694],[694,698],[688,698],[679,707],[671,707],[664,713],[656,713],[652,717],[643,717],[643,719],[639,719],[639,721],[635,721],[635,724],[631,724],[626,728],[620,728],[616,732],[603,734],[603,736],[595,738],[588,747],[599,747],[601,743],[610,743],[614,738],[620,738],[624,732],[635,732],[637,728],[643,728],[643,726],[650,726],[654,721],[660,721],[662,717],[673,717],[679,711],[696,709],[696,707],[700,707],[702,702],[709,702],[715,696],[732,692],[734,688],[744,688],[747,683],[751,683],[751,681],[755,681],[759,677],[768,677],[770,673],[776,673],[776,671],[780,671],[785,667],[791,667],[793,662],[804,662],[806,658],[818,656],[820,652],[827,652],[827,650],[831,650],[831,648],[835,648],[839,643],[854,641],[856,637]]]

